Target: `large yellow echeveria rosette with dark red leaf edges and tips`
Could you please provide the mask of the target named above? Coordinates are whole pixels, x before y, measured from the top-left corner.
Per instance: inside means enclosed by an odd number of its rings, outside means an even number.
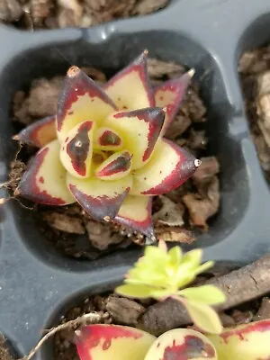
[[[56,116],[14,139],[40,151],[16,193],[47,205],[79,204],[151,238],[151,202],[183,184],[200,161],[163,134],[179,110],[193,70],[152,89],[147,53],[103,86],[70,67]]]

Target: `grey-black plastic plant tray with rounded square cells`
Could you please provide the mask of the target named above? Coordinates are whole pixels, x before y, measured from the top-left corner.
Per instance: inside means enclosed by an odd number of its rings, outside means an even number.
[[[82,30],[31,33],[1,26],[0,182],[16,148],[10,120],[16,90],[71,64],[118,68],[148,49],[150,56],[194,67],[209,109],[221,209],[195,247],[203,247],[205,259],[251,262],[270,250],[270,193],[250,138],[237,67],[239,55],[266,43],[269,33],[269,0],[175,0],[157,14]],[[78,296],[113,287],[139,256],[138,249],[76,261],[52,252],[40,237],[31,211],[7,202],[0,222],[0,331],[21,355]],[[44,347],[37,358],[52,359],[50,350]]]

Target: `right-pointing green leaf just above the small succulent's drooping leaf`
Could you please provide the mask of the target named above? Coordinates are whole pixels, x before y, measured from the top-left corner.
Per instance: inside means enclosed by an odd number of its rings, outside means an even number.
[[[200,302],[205,305],[213,305],[225,302],[226,296],[219,288],[213,285],[202,285],[198,287],[190,287],[177,293],[189,300]]]

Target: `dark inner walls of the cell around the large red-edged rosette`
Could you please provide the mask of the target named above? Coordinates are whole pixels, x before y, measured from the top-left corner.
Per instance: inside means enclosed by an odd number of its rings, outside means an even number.
[[[209,138],[209,155],[216,155],[220,161],[221,199],[220,211],[211,220],[209,232],[199,235],[194,247],[207,247],[216,244],[229,235],[242,219],[249,197],[247,166],[243,157],[241,144],[237,135],[229,126],[233,121],[233,110],[226,95],[221,70],[215,58],[207,49],[195,43],[188,36],[172,31],[138,31],[132,34],[112,33],[102,36],[103,28],[94,31],[85,30],[84,38],[53,40],[53,32],[40,32],[42,41],[32,40],[31,34],[24,33],[25,49],[15,50],[4,63],[0,73],[2,119],[0,131],[2,137],[1,163],[6,171],[14,158],[16,144],[11,139],[14,134],[13,121],[10,118],[12,98],[18,89],[30,85],[31,80],[40,76],[65,74],[70,65],[79,67],[93,66],[105,71],[115,72],[125,66],[140,51],[148,49],[149,56],[171,60],[186,67],[194,67],[202,99],[208,109],[206,124]],[[54,31],[54,33],[58,31]],[[74,36],[75,37],[75,36]],[[104,38],[103,40],[101,40]],[[41,43],[45,45],[42,46]],[[21,47],[22,48],[22,47]],[[46,245],[40,229],[33,220],[31,211],[25,210],[18,202],[7,204],[7,216],[14,222],[16,237],[23,241],[25,247],[36,257],[47,264],[79,270],[91,266],[89,262],[79,262],[58,255]],[[117,250],[119,252],[119,250]],[[138,250],[139,251],[139,250]],[[127,254],[137,257],[137,250]],[[118,254],[119,256],[120,254]],[[126,256],[123,256],[126,259]],[[214,257],[211,254],[211,257]],[[96,265],[110,264],[113,255],[101,258]],[[88,263],[88,264],[86,264]]]

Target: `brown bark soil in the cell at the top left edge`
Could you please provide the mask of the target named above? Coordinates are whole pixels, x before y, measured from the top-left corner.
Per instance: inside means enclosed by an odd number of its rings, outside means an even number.
[[[35,31],[90,27],[155,13],[169,0],[1,0],[0,21]]]

